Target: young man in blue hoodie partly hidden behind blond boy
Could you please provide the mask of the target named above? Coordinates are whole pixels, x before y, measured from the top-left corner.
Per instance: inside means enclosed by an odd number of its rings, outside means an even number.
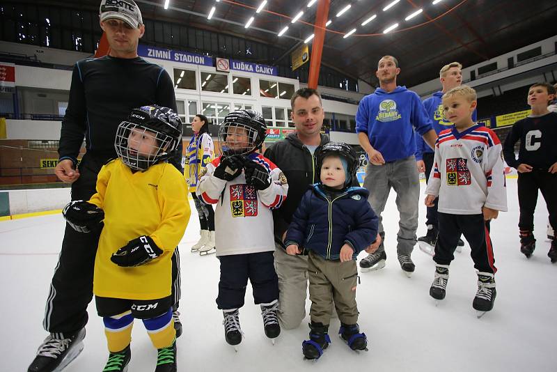
[[[423,101],[423,105],[427,114],[432,121],[433,130],[439,134],[441,130],[446,130],[447,127],[452,126],[453,123],[446,121],[443,116],[443,105],[441,104],[441,97],[450,91],[450,89],[460,86],[462,84],[462,65],[458,62],[451,62],[444,65],[439,71],[439,81],[443,90],[433,93],[430,98]],[[472,120],[476,121],[476,110],[472,114]],[[421,137],[416,137],[416,165],[420,173],[425,172],[425,182],[430,180],[430,173],[433,166],[434,150],[425,144]],[[434,202],[433,207],[427,207],[427,215],[425,217],[425,226],[427,226],[427,233],[425,236],[418,238],[418,245],[420,249],[427,254],[433,256],[435,242],[437,242],[437,201]],[[458,246],[462,247],[464,242],[459,239]],[[460,249],[460,248],[459,248]]]

